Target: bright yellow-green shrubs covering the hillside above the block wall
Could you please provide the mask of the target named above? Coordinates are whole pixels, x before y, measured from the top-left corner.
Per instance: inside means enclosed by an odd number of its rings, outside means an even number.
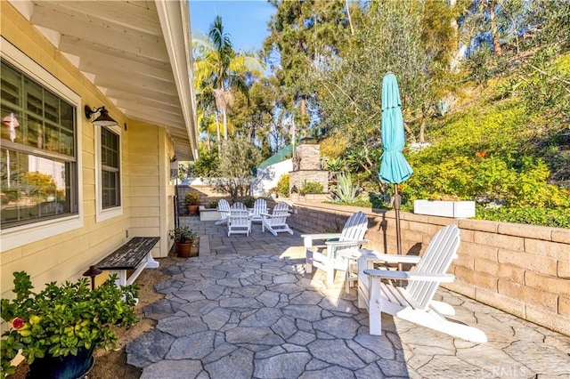
[[[570,75],[570,65],[557,66]],[[414,173],[401,184],[404,208],[417,198],[475,199],[477,218],[570,227],[568,125],[548,126],[548,110],[505,93],[511,80],[471,92],[431,125],[428,148],[408,150]]]

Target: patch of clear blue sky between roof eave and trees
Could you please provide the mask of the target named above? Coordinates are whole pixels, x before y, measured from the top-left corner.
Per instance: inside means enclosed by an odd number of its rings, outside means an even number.
[[[210,24],[219,14],[236,51],[257,51],[268,35],[267,21],[274,9],[265,0],[190,0],[192,34],[208,33]]]

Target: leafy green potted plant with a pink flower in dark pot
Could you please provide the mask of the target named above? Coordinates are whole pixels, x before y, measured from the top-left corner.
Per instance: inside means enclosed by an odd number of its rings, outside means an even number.
[[[115,327],[138,322],[138,286],[116,286],[116,274],[94,289],[81,278],[51,282],[39,293],[25,271],[13,276],[15,298],[0,301],[0,316],[9,324],[2,335],[0,378],[15,372],[12,359],[19,351],[29,365],[28,378],[83,377],[93,367],[95,348],[116,345]]]

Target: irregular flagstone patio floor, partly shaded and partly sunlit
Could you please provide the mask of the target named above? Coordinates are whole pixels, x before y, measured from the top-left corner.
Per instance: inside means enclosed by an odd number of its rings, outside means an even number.
[[[493,378],[570,374],[570,337],[439,290],[458,321],[489,342],[468,343],[384,315],[368,334],[368,314],[337,278],[305,276],[294,236],[226,237],[224,226],[182,218],[200,236],[199,257],[171,266],[156,285],[166,298],[144,309],[158,325],[126,347],[142,378]]]

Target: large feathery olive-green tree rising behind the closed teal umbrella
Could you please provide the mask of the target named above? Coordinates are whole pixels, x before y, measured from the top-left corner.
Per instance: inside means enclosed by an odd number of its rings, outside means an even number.
[[[392,71],[398,78],[411,141],[416,133],[424,141],[433,104],[448,91],[455,37],[452,9],[433,3],[371,3],[346,52],[307,75],[322,124],[342,133],[353,147],[349,161],[372,181],[378,182],[382,76]]]

